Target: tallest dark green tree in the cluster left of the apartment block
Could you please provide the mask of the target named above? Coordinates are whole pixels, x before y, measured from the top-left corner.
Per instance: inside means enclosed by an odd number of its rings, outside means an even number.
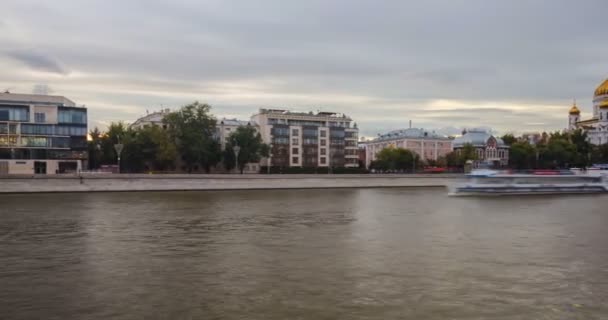
[[[214,139],[216,120],[210,111],[211,106],[195,101],[163,119],[188,172],[199,166],[209,172],[220,160],[220,147]]]

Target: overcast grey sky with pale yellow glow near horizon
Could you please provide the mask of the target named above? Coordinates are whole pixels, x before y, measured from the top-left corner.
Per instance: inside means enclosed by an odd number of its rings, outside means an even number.
[[[566,127],[608,77],[608,1],[3,0],[0,89],[90,127],[198,100],[218,118],[334,111],[361,136]]]

